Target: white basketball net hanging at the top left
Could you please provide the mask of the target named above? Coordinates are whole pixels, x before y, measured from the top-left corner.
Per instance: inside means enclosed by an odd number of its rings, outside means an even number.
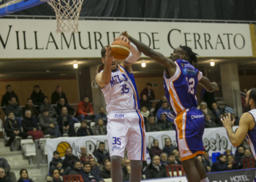
[[[78,33],[78,18],[83,0],[50,0],[48,4],[56,13],[56,33]]]

